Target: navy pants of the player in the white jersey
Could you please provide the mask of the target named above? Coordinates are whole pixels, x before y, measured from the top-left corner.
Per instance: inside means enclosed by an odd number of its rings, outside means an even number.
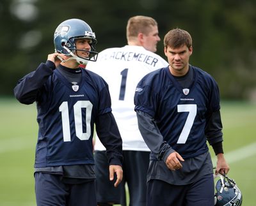
[[[96,193],[98,203],[126,205],[125,183],[129,189],[130,206],[145,206],[147,200],[147,170],[150,152],[123,151],[123,180],[115,188],[109,181],[106,151],[95,151]]]

